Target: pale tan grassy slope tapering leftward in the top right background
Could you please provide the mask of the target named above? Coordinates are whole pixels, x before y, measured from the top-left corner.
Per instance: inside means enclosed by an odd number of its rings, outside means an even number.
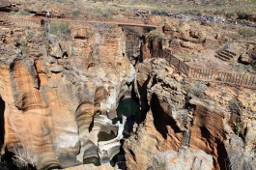
[[[207,2],[207,1],[205,1]],[[170,0],[156,1],[126,1],[118,3],[119,7],[141,10],[152,10],[165,13],[183,13],[183,14],[221,14],[227,17],[236,18],[245,15],[246,17],[256,16],[256,0],[240,0],[236,1],[210,1],[209,3],[189,3],[187,1]]]

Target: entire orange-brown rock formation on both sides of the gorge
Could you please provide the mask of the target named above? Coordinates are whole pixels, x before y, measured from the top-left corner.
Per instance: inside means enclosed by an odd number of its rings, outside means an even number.
[[[0,0],[1,12],[41,23],[0,18],[1,156],[37,169],[255,169],[255,90],[188,79],[151,55],[165,48],[188,64],[229,70],[211,58],[236,46],[226,32],[147,11],[115,17],[151,18],[160,23],[153,34],[145,34],[152,27],[80,24],[86,14],[77,24],[69,20],[74,1],[35,2]],[[66,19],[41,17],[47,10]],[[239,60],[255,64],[255,46],[244,49],[237,48]],[[140,110],[119,119],[124,97],[136,97]]]

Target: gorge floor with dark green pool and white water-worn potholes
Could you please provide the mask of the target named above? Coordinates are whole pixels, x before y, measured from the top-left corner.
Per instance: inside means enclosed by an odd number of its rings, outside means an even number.
[[[130,89],[131,90],[131,89]],[[131,90],[132,91],[132,90]],[[134,98],[134,92],[128,98],[120,100],[116,109],[117,117],[109,120],[104,116],[95,117],[95,125],[103,125],[98,133],[99,158],[87,157],[84,164],[100,165],[110,163],[113,167],[126,169],[126,158],[123,144],[132,133],[136,115],[139,113],[139,103]]]

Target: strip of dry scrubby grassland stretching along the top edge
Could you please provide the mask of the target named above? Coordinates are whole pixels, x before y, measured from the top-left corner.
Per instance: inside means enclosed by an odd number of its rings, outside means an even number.
[[[256,0],[11,0],[11,2],[23,2],[33,6],[40,6],[41,10],[47,10],[56,6],[64,14],[71,12],[73,15],[87,14],[92,16],[110,17],[126,10],[149,10],[171,14],[221,14],[230,18],[242,18],[256,21]],[[63,8],[63,9],[62,9]],[[70,9],[70,10],[69,10]],[[73,12],[73,9],[77,9]]]

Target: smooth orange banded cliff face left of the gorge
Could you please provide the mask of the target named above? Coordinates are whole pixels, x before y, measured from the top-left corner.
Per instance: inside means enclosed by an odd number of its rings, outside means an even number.
[[[91,37],[67,41],[0,28],[2,151],[38,169],[105,162],[119,152],[124,125],[110,119],[135,76],[123,56],[126,37],[118,27],[107,39],[94,26],[85,29]],[[99,142],[100,131],[116,137]]]

